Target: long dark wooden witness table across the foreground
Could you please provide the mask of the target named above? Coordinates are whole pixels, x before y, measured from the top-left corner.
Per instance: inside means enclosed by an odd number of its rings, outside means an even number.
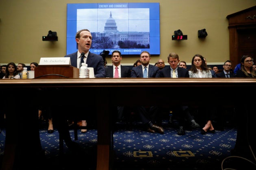
[[[244,93],[251,89],[254,91],[256,79],[191,79],[191,78],[95,78],[95,79],[3,79],[0,88],[6,91],[8,114],[6,116],[6,140],[4,158],[1,170],[13,169],[15,158],[25,157],[19,163],[28,168],[35,157],[33,143],[38,142],[37,113],[38,102],[43,98],[38,96],[38,89],[50,89],[43,93],[47,103],[67,104],[65,107],[76,106],[77,101],[84,100],[87,104],[95,106],[98,124],[97,142],[97,170],[112,169],[112,143],[111,109],[110,106],[135,106],[135,105],[169,105],[171,102],[184,104],[206,104],[213,102],[212,98],[218,98],[218,103],[244,104]],[[78,95],[80,90],[84,95]],[[178,95],[182,92],[184,96]],[[24,96],[26,104],[17,106],[16,96]],[[227,96],[228,95],[228,96]],[[30,97],[34,96],[30,99]],[[106,98],[106,96],[109,96]],[[117,96],[118,98],[113,98]],[[144,101],[144,99],[147,99]],[[237,98],[237,103],[236,100]],[[240,98],[240,100],[239,100]],[[22,118],[21,116],[22,115]],[[21,123],[21,120],[24,122]],[[27,123],[29,122],[29,123]],[[26,125],[29,124],[29,125]],[[22,128],[22,129],[21,129]],[[21,130],[21,131],[17,131]],[[31,136],[27,136],[25,142],[18,140],[18,133],[30,130]],[[34,135],[35,134],[35,135]],[[237,136],[239,137],[239,136]],[[20,142],[26,147],[26,153],[17,147]],[[25,156],[24,156],[25,155]]]

